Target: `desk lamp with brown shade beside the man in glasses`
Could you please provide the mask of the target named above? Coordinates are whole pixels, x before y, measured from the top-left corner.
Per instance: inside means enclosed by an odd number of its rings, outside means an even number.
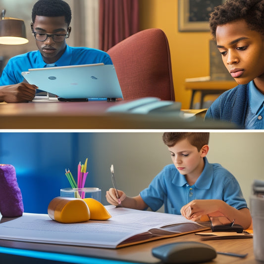
[[[24,21],[4,15],[5,9],[0,14],[0,44],[21,45],[28,43]]]

